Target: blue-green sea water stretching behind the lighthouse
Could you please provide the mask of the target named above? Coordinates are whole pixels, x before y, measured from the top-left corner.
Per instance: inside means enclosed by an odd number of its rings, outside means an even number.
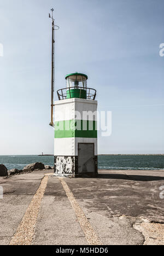
[[[42,162],[54,166],[53,155],[0,155],[0,164],[8,170],[22,170],[26,165]],[[98,168],[104,170],[164,170],[164,154],[98,155]]]

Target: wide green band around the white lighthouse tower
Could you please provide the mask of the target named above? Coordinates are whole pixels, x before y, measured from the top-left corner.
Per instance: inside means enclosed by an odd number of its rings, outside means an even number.
[[[66,120],[55,122],[55,138],[97,138],[97,121]]]

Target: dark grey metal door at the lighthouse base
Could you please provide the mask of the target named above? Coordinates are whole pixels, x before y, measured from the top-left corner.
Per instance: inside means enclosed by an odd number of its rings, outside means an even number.
[[[79,173],[95,172],[95,144],[78,144]]]

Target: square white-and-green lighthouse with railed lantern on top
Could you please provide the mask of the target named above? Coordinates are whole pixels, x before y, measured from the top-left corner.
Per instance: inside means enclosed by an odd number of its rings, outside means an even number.
[[[55,102],[54,176],[96,176],[96,90],[87,88],[87,75],[81,73],[67,75],[66,84]]]

